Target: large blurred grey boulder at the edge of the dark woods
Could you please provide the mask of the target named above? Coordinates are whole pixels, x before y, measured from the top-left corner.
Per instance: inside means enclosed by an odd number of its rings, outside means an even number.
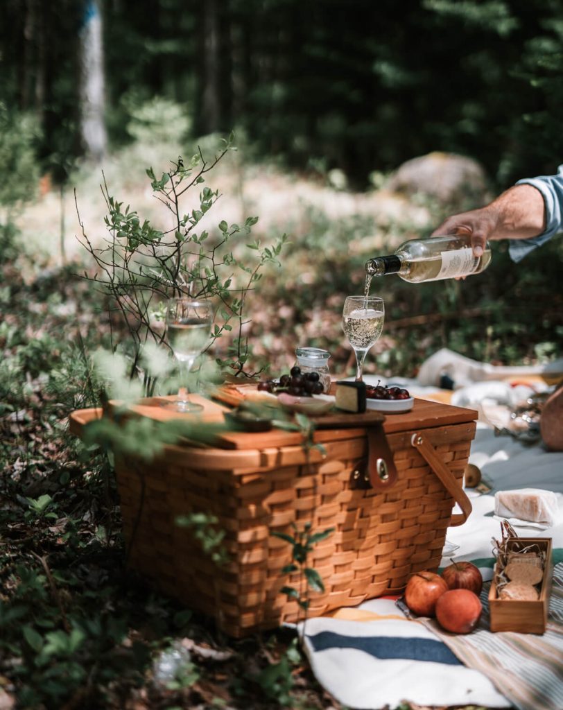
[[[460,209],[488,201],[485,170],[476,160],[454,153],[436,151],[407,160],[390,176],[386,187],[406,195],[428,195]]]

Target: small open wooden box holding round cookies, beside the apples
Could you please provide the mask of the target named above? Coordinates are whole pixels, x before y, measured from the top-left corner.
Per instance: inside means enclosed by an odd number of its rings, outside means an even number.
[[[521,552],[530,545],[537,545],[545,553],[545,567],[539,599],[535,601],[498,599],[497,574],[499,564],[497,562],[491,589],[488,593],[491,631],[545,632],[553,576],[551,537],[509,537],[507,540],[507,552]]]

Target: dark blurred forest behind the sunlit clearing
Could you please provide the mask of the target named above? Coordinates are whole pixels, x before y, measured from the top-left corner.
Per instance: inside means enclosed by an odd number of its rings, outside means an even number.
[[[182,104],[191,131],[244,129],[284,163],[356,187],[432,150],[494,187],[563,155],[559,0],[100,0],[110,145],[134,107]],[[38,159],[80,154],[80,38],[92,2],[4,0],[0,100],[38,118]],[[166,116],[162,117],[167,120]],[[316,161],[316,162],[315,162]]]

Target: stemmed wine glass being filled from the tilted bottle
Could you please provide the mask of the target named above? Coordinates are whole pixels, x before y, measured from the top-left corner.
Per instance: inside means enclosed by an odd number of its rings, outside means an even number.
[[[362,380],[364,359],[383,330],[385,307],[378,296],[348,296],[342,310],[342,329],[356,354],[356,382]]]

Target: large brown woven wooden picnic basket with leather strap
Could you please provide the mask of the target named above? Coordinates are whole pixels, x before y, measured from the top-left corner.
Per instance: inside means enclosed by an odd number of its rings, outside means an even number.
[[[222,417],[222,407],[209,408],[210,418]],[[164,411],[148,403],[139,413]],[[272,535],[293,534],[292,523],[334,528],[307,560],[325,587],[311,594],[309,616],[402,591],[412,572],[438,567],[448,526],[471,511],[461,482],[476,412],[415,400],[383,424],[371,414],[319,428],[324,453],[305,449],[298,432],[271,430],[225,435],[217,447],[167,446],[150,463],[116,457],[130,567],[236,637],[299,616],[297,601],[280,593],[300,586],[299,577],[282,574],[291,547]],[[100,415],[72,413],[71,430],[81,435]],[[393,476],[374,471],[381,447]],[[456,501],[461,513],[452,516]],[[216,516],[225,531],[226,564],[215,564],[175,522],[197,512]]]

